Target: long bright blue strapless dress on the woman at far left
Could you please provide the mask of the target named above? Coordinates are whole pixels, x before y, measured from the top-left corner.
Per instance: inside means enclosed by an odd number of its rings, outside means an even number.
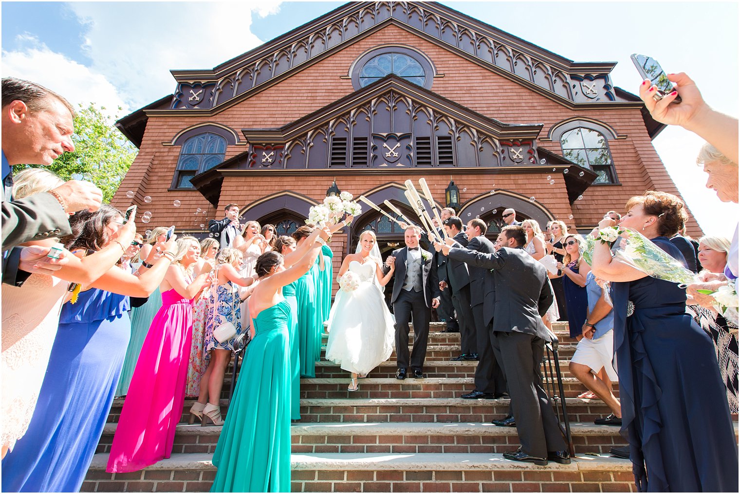
[[[61,306],[28,431],[2,461],[4,492],[76,493],[103,434],[131,335],[129,297],[92,288]]]

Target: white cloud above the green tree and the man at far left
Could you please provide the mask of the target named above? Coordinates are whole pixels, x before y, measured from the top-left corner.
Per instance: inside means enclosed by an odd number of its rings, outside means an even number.
[[[20,47],[2,51],[2,75],[36,82],[48,87],[70,103],[105,106],[111,116],[125,115],[129,108],[124,98],[104,75],[55,53],[32,35],[20,35]],[[118,106],[124,108],[118,111]]]

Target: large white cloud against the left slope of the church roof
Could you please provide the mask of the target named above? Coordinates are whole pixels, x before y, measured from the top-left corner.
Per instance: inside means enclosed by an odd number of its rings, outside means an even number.
[[[69,4],[84,24],[90,68],[115,84],[132,109],[175,91],[170,69],[210,69],[262,44],[249,30],[252,13],[266,16],[279,5],[273,0]]]

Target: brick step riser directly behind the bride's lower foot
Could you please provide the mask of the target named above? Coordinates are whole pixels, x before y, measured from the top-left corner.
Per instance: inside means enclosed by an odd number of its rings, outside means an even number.
[[[586,388],[574,377],[562,380],[566,398],[575,398]],[[404,379],[367,377],[358,379],[357,391],[348,391],[349,373],[343,378],[301,379],[300,397],[317,398],[459,398],[474,390],[472,377]],[[619,393],[616,393],[619,396]]]

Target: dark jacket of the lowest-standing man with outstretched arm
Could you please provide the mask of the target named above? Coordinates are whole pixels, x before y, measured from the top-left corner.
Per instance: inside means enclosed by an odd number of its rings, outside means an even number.
[[[550,339],[542,322],[554,300],[547,269],[523,248],[502,247],[493,254],[451,248],[448,257],[494,271],[494,331]]]

